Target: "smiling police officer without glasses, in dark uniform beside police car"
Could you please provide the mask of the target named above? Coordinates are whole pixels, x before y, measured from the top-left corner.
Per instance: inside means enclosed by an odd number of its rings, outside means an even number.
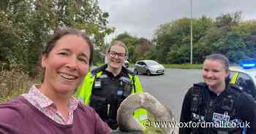
[[[250,95],[229,84],[229,74],[224,55],[206,57],[204,82],[194,84],[185,95],[179,134],[256,133],[256,104]]]

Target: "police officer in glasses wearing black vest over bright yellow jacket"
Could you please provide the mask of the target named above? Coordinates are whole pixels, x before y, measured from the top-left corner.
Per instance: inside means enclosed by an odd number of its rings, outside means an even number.
[[[108,64],[89,72],[75,93],[78,100],[90,105],[108,125],[116,130],[118,107],[133,92],[143,92],[138,76],[123,67],[128,50],[123,42],[115,41],[106,50]],[[146,111],[135,111],[135,119],[146,119]]]

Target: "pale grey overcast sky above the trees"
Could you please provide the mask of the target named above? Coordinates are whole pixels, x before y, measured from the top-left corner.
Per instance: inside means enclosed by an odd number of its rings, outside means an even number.
[[[152,39],[159,25],[170,23],[182,17],[216,18],[227,12],[241,11],[242,20],[256,19],[256,0],[98,0],[103,12],[108,12],[110,27],[115,33],[107,36],[105,42],[119,33]]]

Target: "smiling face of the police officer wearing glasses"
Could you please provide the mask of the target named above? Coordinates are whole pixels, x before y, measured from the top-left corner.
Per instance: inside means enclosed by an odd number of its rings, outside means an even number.
[[[118,45],[113,45],[107,54],[107,58],[108,66],[110,66],[110,68],[121,68],[126,60],[125,48]]]

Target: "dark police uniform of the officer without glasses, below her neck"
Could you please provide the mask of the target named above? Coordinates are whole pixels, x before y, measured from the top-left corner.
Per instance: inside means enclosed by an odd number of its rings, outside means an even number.
[[[180,122],[183,122],[184,126],[179,128],[179,134],[244,133],[242,125],[246,126],[246,122],[249,122],[246,133],[256,133],[255,101],[251,96],[241,92],[238,87],[228,82],[226,85],[225,90],[219,95],[211,92],[205,82],[194,84],[189,89],[181,109]],[[200,124],[193,126],[192,122],[200,122]],[[206,122],[215,123],[207,126]],[[230,127],[231,123],[227,126],[227,122],[233,122],[234,127]]]

